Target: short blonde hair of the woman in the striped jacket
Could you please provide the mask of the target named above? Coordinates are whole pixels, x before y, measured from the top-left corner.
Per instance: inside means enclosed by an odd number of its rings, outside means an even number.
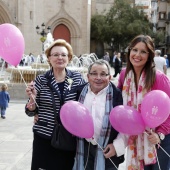
[[[48,59],[48,58],[50,57],[50,55],[51,55],[51,49],[52,49],[53,47],[55,47],[55,46],[64,46],[64,47],[66,47],[67,50],[68,50],[68,59],[69,59],[69,61],[72,60],[72,58],[73,58],[73,49],[72,49],[71,45],[70,45],[68,42],[66,42],[64,39],[57,39],[57,40],[55,40],[55,41],[46,49],[45,54],[46,54],[46,56],[47,56],[47,59]],[[48,63],[49,63],[49,61],[48,61]],[[49,63],[49,64],[50,64],[50,63]],[[51,64],[50,64],[50,66],[51,66]]]

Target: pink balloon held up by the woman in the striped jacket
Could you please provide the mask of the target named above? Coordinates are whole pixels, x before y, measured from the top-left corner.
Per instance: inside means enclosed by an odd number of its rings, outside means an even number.
[[[0,57],[17,66],[24,54],[24,38],[21,31],[12,24],[0,25]]]

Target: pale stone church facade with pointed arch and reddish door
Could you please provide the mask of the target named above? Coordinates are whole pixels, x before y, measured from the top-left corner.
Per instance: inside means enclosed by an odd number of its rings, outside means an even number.
[[[114,0],[0,0],[0,24],[17,26],[25,39],[25,54],[42,53],[42,35],[36,26],[51,27],[54,39],[64,38],[74,54],[90,53],[90,20],[107,11]],[[47,29],[45,29],[47,32]],[[17,42],[16,42],[17,43]]]

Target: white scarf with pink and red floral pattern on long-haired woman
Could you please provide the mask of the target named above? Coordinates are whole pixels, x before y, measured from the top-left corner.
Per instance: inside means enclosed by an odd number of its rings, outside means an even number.
[[[146,94],[144,87],[145,74],[142,73],[138,89],[136,92],[134,73],[130,71],[123,84],[123,104],[132,106],[141,113],[141,102]],[[128,139],[126,169],[143,170],[144,165],[154,164],[156,162],[155,146],[152,145],[146,134],[130,136]]]

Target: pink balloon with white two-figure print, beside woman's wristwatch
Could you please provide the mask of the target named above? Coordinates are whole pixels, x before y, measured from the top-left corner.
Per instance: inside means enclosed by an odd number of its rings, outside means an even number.
[[[159,126],[170,114],[169,96],[161,90],[150,91],[141,103],[141,114],[146,126]]]

